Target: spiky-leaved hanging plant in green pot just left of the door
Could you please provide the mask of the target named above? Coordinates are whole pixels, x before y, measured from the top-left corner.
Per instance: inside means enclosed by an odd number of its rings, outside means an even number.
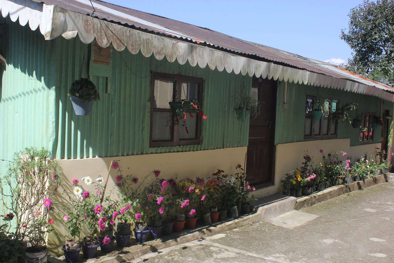
[[[247,95],[245,90],[235,96],[235,103],[234,112],[240,121],[249,118],[250,112],[252,112],[253,119],[260,114],[260,102],[257,101],[255,96]]]

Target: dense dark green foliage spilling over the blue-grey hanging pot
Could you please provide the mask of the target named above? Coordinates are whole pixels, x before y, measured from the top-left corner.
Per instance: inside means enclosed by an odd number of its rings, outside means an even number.
[[[78,97],[84,103],[100,100],[96,85],[87,78],[80,78],[71,83],[69,97]]]

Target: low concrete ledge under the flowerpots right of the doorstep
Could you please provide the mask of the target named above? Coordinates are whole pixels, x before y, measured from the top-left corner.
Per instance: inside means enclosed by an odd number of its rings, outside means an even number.
[[[294,209],[300,210],[305,207],[309,207],[316,203],[320,203],[331,198],[340,196],[342,194],[346,194],[349,192],[354,192],[361,190],[362,188],[371,187],[373,185],[378,185],[381,183],[386,183],[389,179],[389,174],[381,174],[372,178],[365,179],[364,181],[357,181],[354,183],[350,183],[348,185],[338,185],[329,187],[321,192],[317,192],[316,194],[312,194],[310,196],[304,196],[297,199],[297,203],[294,206]]]

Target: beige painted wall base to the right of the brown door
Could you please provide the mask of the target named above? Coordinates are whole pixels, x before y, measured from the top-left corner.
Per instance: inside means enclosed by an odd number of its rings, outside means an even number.
[[[372,155],[372,159],[375,159],[375,148],[380,148],[380,146],[380,143],[350,146],[350,139],[317,140],[278,144],[276,145],[275,157],[275,184],[270,187],[254,191],[253,195],[256,198],[261,198],[263,196],[281,192],[281,180],[286,172],[301,166],[301,163],[304,160],[303,156],[305,151],[308,151],[312,159],[318,162],[323,160],[322,154],[319,152],[320,149],[323,149],[325,155],[334,151],[345,151],[348,153],[348,157],[358,158],[367,153],[368,156]]]

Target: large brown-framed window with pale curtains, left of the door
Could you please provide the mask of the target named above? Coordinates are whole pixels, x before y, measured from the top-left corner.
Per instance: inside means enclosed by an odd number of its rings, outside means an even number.
[[[188,112],[185,120],[174,125],[169,102],[197,100],[202,106],[203,79],[165,73],[152,74],[151,135],[149,147],[200,144],[201,116]]]

